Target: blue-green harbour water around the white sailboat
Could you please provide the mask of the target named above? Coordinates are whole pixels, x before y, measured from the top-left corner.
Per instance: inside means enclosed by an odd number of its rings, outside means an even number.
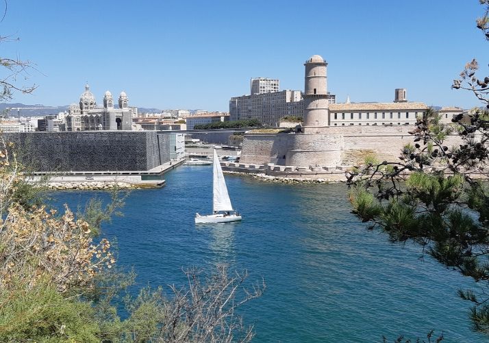
[[[183,284],[181,268],[226,262],[264,278],[265,294],[242,309],[254,342],[392,342],[398,335],[444,332],[443,342],[481,342],[459,287],[471,280],[391,244],[350,211],[344,185],[280,185],[226,176],[244,220],[195,226],[212,209],[212,167],[179,167],[166,187],[133,191],[105,225],[118,241],[118,264],[142,285]],[[96,192],[55,193],[72,208]],[[135,292],[136,288],[132,290]]]

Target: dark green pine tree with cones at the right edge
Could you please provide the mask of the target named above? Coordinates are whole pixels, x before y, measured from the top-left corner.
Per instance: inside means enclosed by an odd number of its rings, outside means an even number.
[[[489,0],[477,27],[489,40]],[[489,77],[477,78],[468,62],[453,88],[475,94],[489,108]],[[479,291],[460,289],[470,300],[475,330],[489,334],[489,113],[479,108],[444,126],[433,110],[418,119],[413,143],[399,162],[366,161],[347,175],[353,213],[394,242],[414,241],[423,253],[471,277]],[[457,140],[456,145],[452,145]],[[451,141],[451,143],[449,143]]]

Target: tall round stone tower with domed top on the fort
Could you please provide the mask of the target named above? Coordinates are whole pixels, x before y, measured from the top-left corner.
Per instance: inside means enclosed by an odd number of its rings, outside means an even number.
[[[327,63],[319,55],[311,56],[304,63],[304,132],[314,132],[308,127],[329,126],[327,95]]]

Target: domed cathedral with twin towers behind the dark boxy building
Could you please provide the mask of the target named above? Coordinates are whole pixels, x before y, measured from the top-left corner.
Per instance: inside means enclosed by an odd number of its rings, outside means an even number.
[[[101,108],[86,84],[79,104],[71,104],[68,108],[64,119],[66,131],[131,130],[132,118],[137,117],[138,108],[129,107],[128,102],[127,94],[123,91],[118,98],[118,108],[114,108],[112,93],[106,91]]]

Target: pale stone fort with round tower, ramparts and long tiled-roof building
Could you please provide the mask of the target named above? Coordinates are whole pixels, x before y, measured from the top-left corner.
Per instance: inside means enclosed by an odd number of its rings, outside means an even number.
[[[408,102],[403,88],[395,90],[394,102],[390,103],[329,104],[327,62],[314,55],[304,66],[303,132],[247,132],[240,167],[273,164],[331,169],[361,163],[366,155],[398,161],[401,149],[412,142],[408,131],[428,106]],[[442,121],[451,121],[451,116]]]

